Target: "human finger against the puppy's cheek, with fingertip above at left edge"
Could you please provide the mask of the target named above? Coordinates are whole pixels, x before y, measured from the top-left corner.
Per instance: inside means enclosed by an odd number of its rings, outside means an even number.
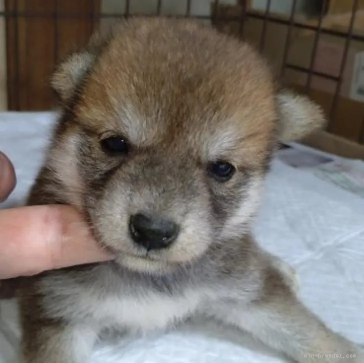
[[[11,193],[15,182],[14,168],[0,152],[0,201]],[[0,209],[0,279],[112,258],[70,206]]]

